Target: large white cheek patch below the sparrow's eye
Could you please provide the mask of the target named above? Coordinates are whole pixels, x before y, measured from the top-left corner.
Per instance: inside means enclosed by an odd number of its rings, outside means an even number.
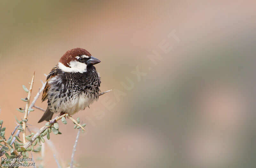
[[[71,68],[66,67],[61,62],[59,62],[58,65],[59,65],[59,68],[64,72],[80,72],[80,73],[86,72],[86,64],[82,62],[78,62],[76,60],[69,62],[68,66],[70,66]]]

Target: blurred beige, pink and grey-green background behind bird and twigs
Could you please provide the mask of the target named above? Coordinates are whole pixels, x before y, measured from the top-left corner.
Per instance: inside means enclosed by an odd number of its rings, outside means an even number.
[[[0,1],[0,119],[10,135],[69,49],[101,60],[101,91],[73,115],[87,123],[78,167],[255,167],[255,1]],[[46,109],[38,99],[36,106]],[[42,111],[28,117],[30,128]],[[60,123],[40,164],[68,167],[77,129]]]

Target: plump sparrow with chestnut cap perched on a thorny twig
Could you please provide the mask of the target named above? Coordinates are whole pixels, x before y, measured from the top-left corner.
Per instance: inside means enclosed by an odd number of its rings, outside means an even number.
[[[38,121],[49,121],[53,113],[70,115],[89,107],[99,98],[100,76],[93,66],[100,60],[83,48],[68,50],[46,79],[42,101],[48,107]]]

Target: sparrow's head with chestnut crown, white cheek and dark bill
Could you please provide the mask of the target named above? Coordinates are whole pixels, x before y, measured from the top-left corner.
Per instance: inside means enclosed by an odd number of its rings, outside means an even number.
[[[92,66],[100,63],[100,60],[92,57],[92,55],[83,48],[74,48],[68,50],[59,61],[59,68],[64,72],[79,72],[87,71],[87,66]]]

